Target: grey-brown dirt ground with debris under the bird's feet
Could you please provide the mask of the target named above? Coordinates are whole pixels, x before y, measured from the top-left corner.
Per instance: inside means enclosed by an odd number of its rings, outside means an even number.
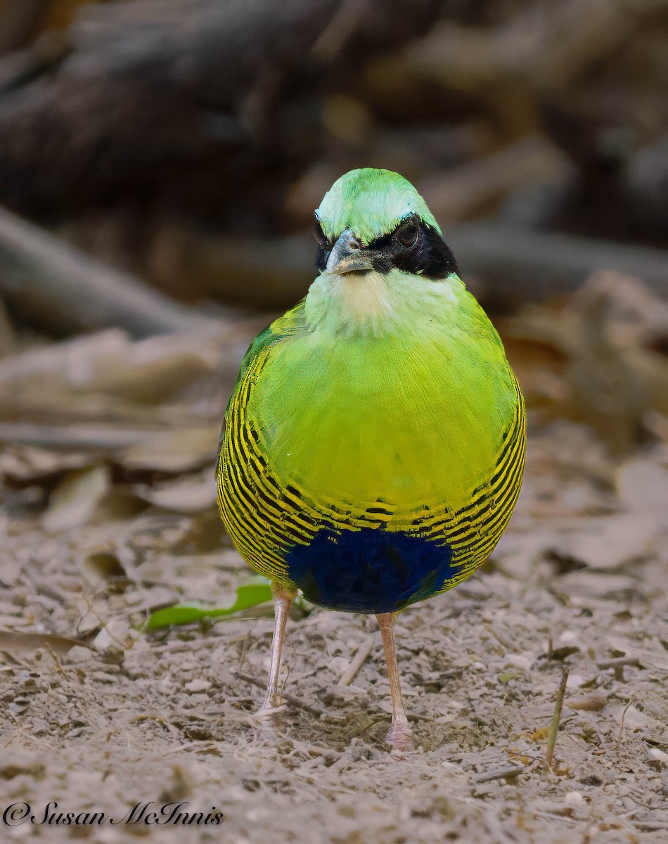
[[[215,513],[154,507],[51,534],[23,492],[0,516],[0,841],[668,841],[666,467],[665,446],[615,466],[576,425],[531,435],[493,560],[397,622],[418,744],[404,756],[382,744],[373,619],[315,609],[289,622],[293,698],[272,732],[252,717],[261,689],[237,675],[264,682],[268,612],[141,629],[175,600],[231,603],[249,576],[219,547]],[[104,565],[112,576],[96,582]],[[369,636],[369,658],[339,685]],[[186,801],[224,820],[38,824],[15,805],[39,821],[49,801],[116,821],[137,803]]]

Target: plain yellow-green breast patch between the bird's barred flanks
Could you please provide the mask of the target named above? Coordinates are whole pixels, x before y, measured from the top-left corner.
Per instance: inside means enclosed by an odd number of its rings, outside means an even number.
[[[247,416],[272,470],[313,500],[455,510],[493,472],[517,395],[504,359],[433,338],[281,344]]]

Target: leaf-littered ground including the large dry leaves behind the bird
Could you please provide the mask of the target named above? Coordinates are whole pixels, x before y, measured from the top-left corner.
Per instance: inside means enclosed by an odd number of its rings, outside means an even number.
[[[222,367],[211,338],[137,350],[108,332],[79,341],[88,367],[66,344],[3,360],[0,389],[19,403],[3,405],[0,436],[20,429],[0,448],[5,803],[122,817],[139,801],[183,798],[225,813],[223,832],[200,827],[198,841],[239,844],[299,830],[314,844],[668,840],[664,317],[653,301],[625,306],[610,274],[591,284],[501,323],[529,398],[525,485],[482,571],[396,623],[418,744],[402,757],[382,744],[389,684],[364,615],[296,607],[286,704],[273,729],[254,717],[272,636],[257,603],[269,587],[224,535],[212,485],[216,426],[250,327],[235,329],[234,354],[224,341]],[[606,320],[593,340],[564,343],[568,320],[585,330],[587,295],[607,297]],[[640,373],[639,398],[626,376],[601,378],[611,346],[622,359],[613,372]],[[190,361],[187,379],[175,360]],[[50,380],[60,394],[45,392]],[[621,439],[608,437],[596,398],[611,384],[630,397]],[[177,623],[183,612],[189,624]],[[127,841],[122,826],[78,831],[102,830],[100,840]]]

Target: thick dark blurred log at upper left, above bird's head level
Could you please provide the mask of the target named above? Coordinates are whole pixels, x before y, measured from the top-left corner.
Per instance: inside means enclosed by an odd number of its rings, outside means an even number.
[[[251,179],[271,193],[317,152],[314,94],[426,30],[439,0],[359,6],[333,29],[345,0],[85,7],[48,73],[0,62],[0,203],[62,215],[132,192],[219,220]]]

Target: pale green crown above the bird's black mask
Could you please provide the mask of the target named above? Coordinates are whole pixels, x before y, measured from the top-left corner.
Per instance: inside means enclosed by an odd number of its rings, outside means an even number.
[[[350,229],[366,244],[396,229],[408,214],[418,214],[440,235],[439,224],[410,181],[371,167],[350,170],[337,179],[315,210],[331,242]]]

